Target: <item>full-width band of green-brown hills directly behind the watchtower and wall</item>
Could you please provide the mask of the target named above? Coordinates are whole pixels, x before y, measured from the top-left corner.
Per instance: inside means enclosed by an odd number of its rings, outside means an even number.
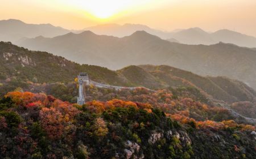
[[[148,88],[196,88],[196,96],[225,102],[254,101],[256,92],[241,81],[224,77],[203,77],[175,67],[160,65],[128,66],[118,71],[91,65],[79,65],[46,52],[30,51],[8,42],[0,42],[0,92],[13,91],[18,81],[27,84],[71,82],[79,72],[101,83],[144,86]],[[25,86],[26,86],[25,85]],[[32,84],[33,90],[37,84]],[[16,85],[16,87],[24,87]],[[11,89],[11,90],[9,90]],[[24,88],[32,91],[31,87]],[[43,89],[44,90],[44,89]],[[39,89],[38,91],[42,91]],[[200,95],[201,94],[201,95]],[[205,98],[207,97],[207,98]]]

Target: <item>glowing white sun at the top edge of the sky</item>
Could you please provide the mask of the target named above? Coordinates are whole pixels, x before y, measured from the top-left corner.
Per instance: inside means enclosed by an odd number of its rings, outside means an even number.
[[[73,0],[72,5],[98,19],[108,19],[121,12],[132,11],[138,5],[151,0]]]

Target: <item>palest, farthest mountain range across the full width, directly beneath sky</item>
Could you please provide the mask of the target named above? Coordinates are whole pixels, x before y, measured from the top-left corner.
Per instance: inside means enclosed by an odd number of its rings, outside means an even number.
[[[255,37],[243,35],[228,29],[222,29],[213,33],[205,32],[201,28],[176,29],[172,32],[164,32],[141,24],[102,24],[84,28],[84,31],[92,31],[97,35],[115,37],[129,36],[136,31],[146,31],[164,40],[179,42],[181,44],[212,45],[221,41],[238,46],[256,48]],[[17,41],[22,40],[22,38],[34,38],[37,36],[55,37],[69,32],[81,33],[82,31],[69,31],[68,29],[55,27],[51,24],[26,24],[15,19],[0,20],[0,41],[11,41],[15,44],[18,44]]]

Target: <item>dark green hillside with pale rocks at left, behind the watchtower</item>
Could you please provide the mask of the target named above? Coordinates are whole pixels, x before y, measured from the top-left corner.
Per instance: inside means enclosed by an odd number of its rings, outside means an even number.
[[[79,65],[46,52],[30,51],[9,42],[0,42],[2,80],[20,79],[38,83],[73,81],[79,72],[109,84],[125,84],[115,71],[92,65]]]

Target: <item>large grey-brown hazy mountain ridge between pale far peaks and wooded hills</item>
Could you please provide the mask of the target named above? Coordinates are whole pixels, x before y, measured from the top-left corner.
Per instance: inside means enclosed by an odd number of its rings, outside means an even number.
[[[256,89],[256,51],[233,44],[185,45],[144,31],[122,38],[85,31],[26,39],[19,45],[114,70],[129,65],[170,65],[204,76],[227,76]]]

